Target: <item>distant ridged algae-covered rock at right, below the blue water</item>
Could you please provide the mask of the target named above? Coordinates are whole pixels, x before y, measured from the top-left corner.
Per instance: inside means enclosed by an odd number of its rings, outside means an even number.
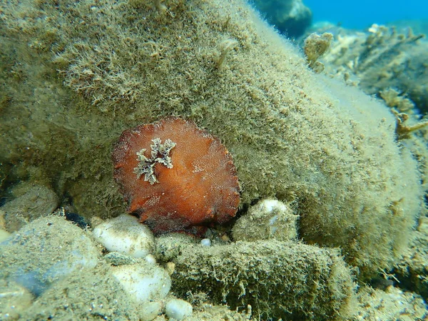
[[[412,100],[392,107],[408,111],[414,104],[426,114],[428,71],[424,53],[428,41],[424,38],[411,28],[374,24],[367,33],[338,34],[322,61],[329,66],[328,73],[357,83],[365,93],[381,96],[387,103],[392,91]]]

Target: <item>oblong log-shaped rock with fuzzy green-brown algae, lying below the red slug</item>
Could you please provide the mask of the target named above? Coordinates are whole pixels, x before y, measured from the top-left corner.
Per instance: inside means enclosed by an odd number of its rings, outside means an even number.
[[[172,290],[206,292],[253,317],[332,320],[350,315],[351,272],[337,250],[275,240],[189,246],[173,260]]]

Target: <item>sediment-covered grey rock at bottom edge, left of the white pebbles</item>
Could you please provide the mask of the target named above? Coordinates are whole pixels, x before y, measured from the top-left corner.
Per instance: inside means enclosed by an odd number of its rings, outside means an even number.
[[[39,296],[21,320],[144,320],[142,306],[121,289],[108,265],[74,271]]]

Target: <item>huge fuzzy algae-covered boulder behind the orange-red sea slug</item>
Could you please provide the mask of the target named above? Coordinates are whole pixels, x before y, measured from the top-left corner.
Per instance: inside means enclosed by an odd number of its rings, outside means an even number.
[[[314,75],[245,1],[41,0],[0,10],[0,94],[9,97],[0,162],[16,164],[8,179],[53,182],[86,217],[118,215],[112,143],[126,128],[182,116],[225,143],[243,208],[293,203],[305,242],[342,248],[367,274],[407,246],[422,188],[394,116]]]

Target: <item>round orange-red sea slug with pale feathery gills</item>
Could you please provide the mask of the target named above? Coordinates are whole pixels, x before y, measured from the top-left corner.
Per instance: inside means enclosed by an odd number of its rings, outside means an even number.
[[[113,150],[114,178],[154,233],[186,231],[235,216],[240,201],[232,157],[193,121],[165,118],[124,131]]]

